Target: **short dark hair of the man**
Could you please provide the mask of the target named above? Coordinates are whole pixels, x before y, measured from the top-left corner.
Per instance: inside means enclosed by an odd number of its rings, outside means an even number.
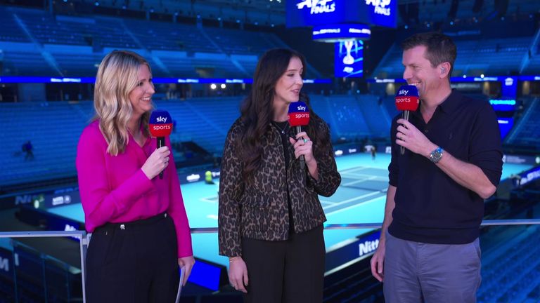
[[[443,62],[449,62],[450,72],[448,76],[450,78],[454,71],[454,62],[456,62],[458,50],[449,36],[439,32],[425,32],[414,34],[401,42],[403,50],[409,50],[416,46],[425,46],[425,58],[430,61],[432,67],[437,67]]]

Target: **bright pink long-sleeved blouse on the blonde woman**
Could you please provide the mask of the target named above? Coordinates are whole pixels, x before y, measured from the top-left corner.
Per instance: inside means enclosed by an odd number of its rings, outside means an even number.
[[[171,148],[168,138],[165,144]],[[148,138],[140,147],[129,135],[124,152],[117,156],[108,154],[107,147],[99,121],[84,128],[77,146],[76,164],[86,230],[92,232],[108,222],[131,222],[167,212],[176,227],[178,257],[193,255],[172,154],[163,179],[149,180],[141,168],[156,149],[155,138]]]

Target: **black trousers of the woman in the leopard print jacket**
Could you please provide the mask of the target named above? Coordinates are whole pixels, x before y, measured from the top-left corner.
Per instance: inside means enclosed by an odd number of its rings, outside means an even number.
[[[322,226],[286,241],[243,238],[249,278],[244,302],[323,302],[325,253]]]

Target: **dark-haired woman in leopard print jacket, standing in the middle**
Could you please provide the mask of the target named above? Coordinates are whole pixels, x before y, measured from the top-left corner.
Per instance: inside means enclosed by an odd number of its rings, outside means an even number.
[[[229,257],[229,280],[245,302],[323,299],[326,217],[319,194],[331,196],[341,177],[328,126],[311,108],[305,131],[288,125],[291,102],[309,107],[300,93],[304,67],[294,50],[264,53],[225,142],[219,253]]]

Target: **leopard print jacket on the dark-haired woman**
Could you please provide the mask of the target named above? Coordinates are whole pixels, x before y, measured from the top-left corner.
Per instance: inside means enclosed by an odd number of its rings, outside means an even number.
[[[309,127],[319,128],[330,142],[330,131],[319,117],[312,117]],[[243,159],[238,148],[244,124],[241,119],[231,126],[226,138],[221,160],[219,180],[219,254],[241,256],[241,239],[254,238],[282,241],[289,236],[288,194],[293,214],[295,233],[309,231],[326,221],[319,194],[331,196],[341,182],[330,144],[325,150],[314,145],[314,157],[319,170],[319,180],[304,173],[300,161],[295,159],[293,145],[288,153],[289,167],[285,170],[283,143],[276,128],[269,124],[263,137],[264,152],[259,170],[252,182],[245,184],[241,177]],[[290,130],[290,136],[295,133]]]

